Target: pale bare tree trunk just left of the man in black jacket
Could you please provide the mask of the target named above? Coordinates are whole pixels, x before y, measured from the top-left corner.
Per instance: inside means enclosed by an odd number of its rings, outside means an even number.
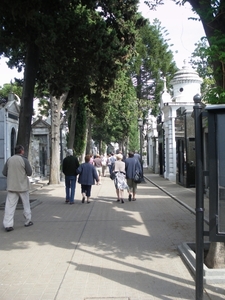
[[[49,184],[60,183],[60,118],[62,105],[68,93],[51,97],[51,162]]]

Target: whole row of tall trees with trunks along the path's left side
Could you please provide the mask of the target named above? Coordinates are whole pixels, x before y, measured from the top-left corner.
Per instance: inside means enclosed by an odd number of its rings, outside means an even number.
[[[100,148],[137,148],[137,119],[150,106],[157,112],[161,77],[176,70],[160,24],[143,19],[135,0],[3,2],[0,54],[24,69],[17,142],[26,152],[34,95],[50,99],[52,161],[59,162],[62,108],[77,155],[91,137]],[[58,170],[52,164],[50,183]]]

